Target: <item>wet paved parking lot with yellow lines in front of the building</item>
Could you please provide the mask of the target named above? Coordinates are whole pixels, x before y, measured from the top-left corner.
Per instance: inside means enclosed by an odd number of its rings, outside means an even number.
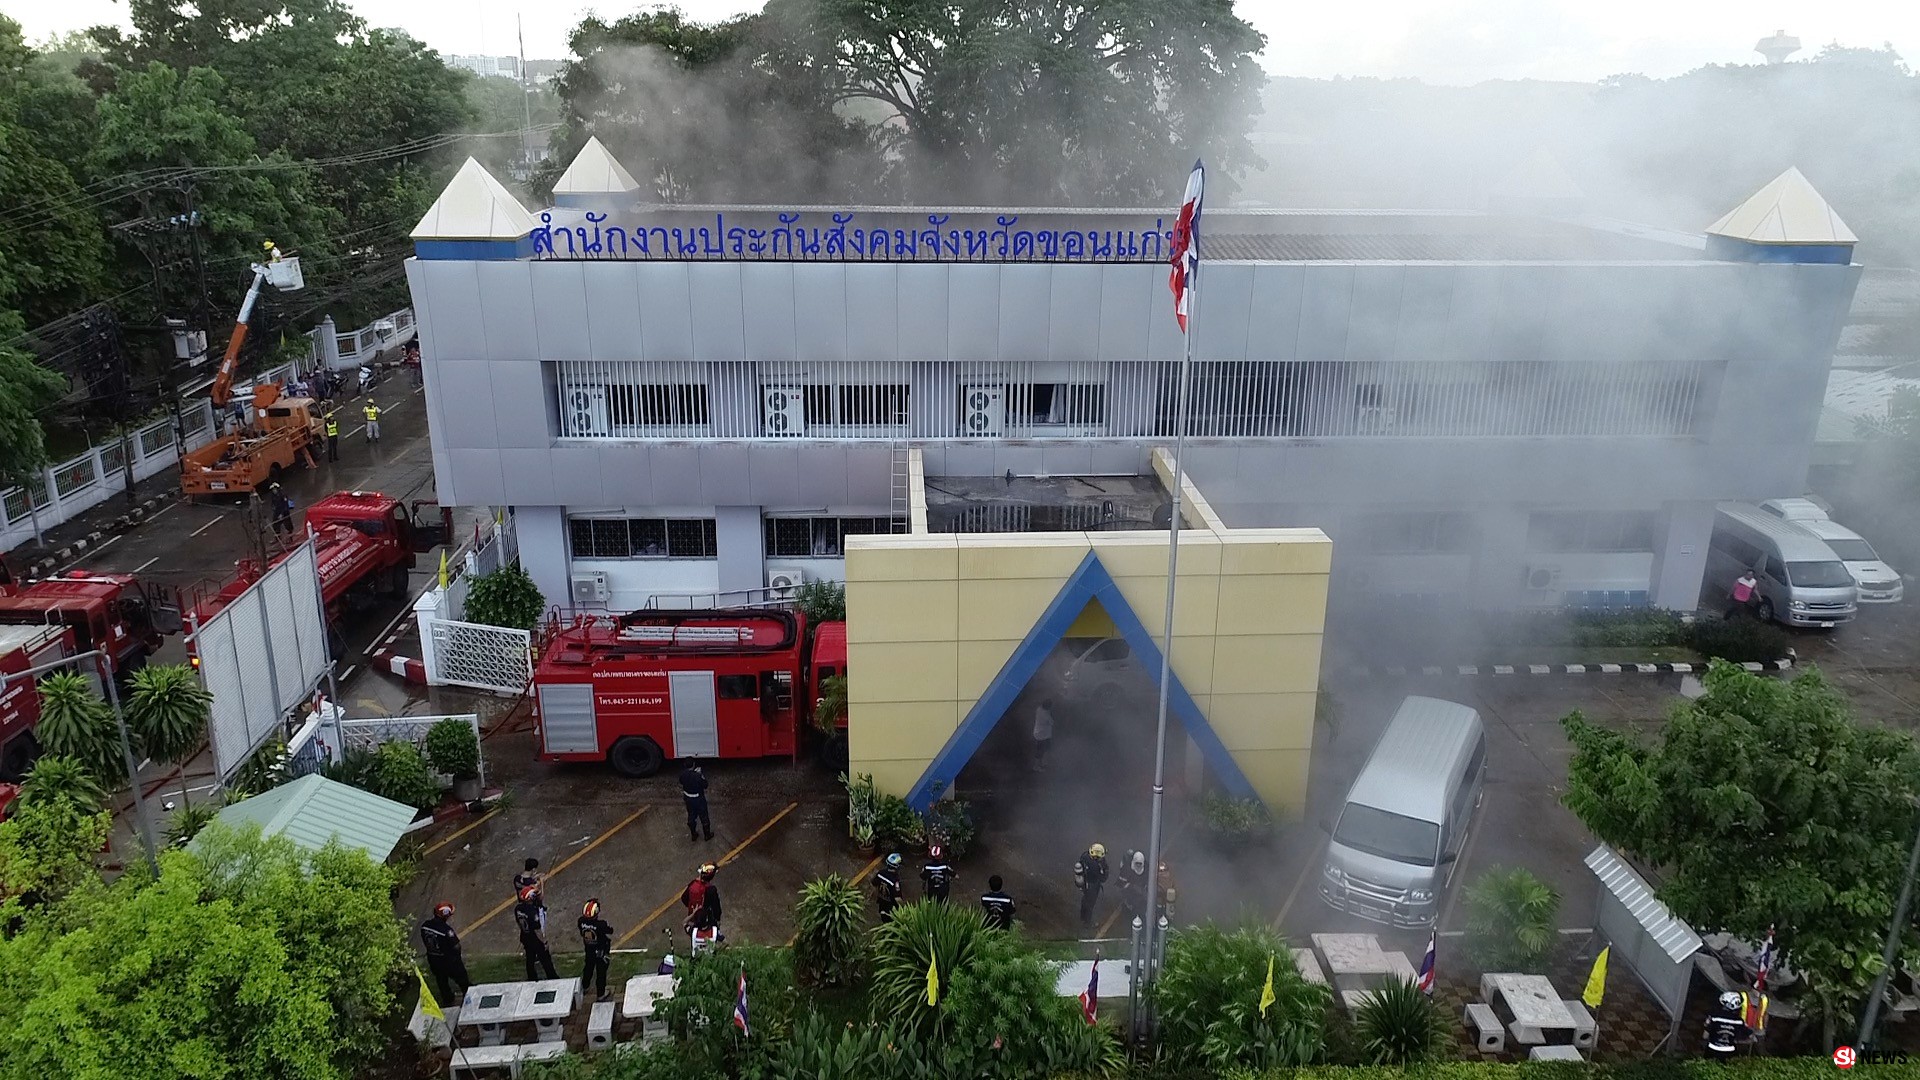
[[[1920,728],[1920,621],[1905,605],[1870,609],[1836,634],[1795,634],[1803,663],[1822,671],[1870,721]],[[1091,842],[1108,847],[1117,871],[1127,851],[1144,847],[1154,700],[1144,680],[1123,692],[1089,690],[1048,665],[1021,694],[1008,719],[962,773],[958,794],[979,817],[975,847],[956,863],[954,896],[966,903],[1000,874],[1020,901],[1027,930],[1044,940],[1104,938],[1121,947],[1127,919],[1108,890],[1092,926],[1083,928],[1073,892],[1073,861]],[[1116,669],[1117,671],[1117,669]],[[1135,673],[1139,675],[1139,673]],[[1317,730],[1309,811],[1284,822],[1271,842],[1236,851],[1212,842],[1188,790],[1183,740],[1169,740],[1167,861],[1179,882],[1179,922],[1261,920],[1294,940],[1325,930],[1379,932],[1375,924],[1331,911],[1317,896],[1327,834],[1319,821],[1334,811],[1352,776],[1405,694],[1428,694],[1473,705],[1488,730],[1488,784],[1480,824],[1453,871],[1442,903],[1442,932],[1463,924],[1459,886],[1488,867],[1526,867],[1563,896],[1561,926],[1592,924],[1596,886],[1582,859],[1594,840],[1567,811],[1563,794],[1571,748],[1559,721],[1572,709],[1645,734],[1682,690],[1680,675],[1553,676],[1405,676],[1329,675],[1338,721]],[[1054,701],[1056,736],[1044,771],[1031,765],[1033,707]],[[444,707],[444,703],[436,705]],[[492,778],[511,805],[476,821],[436,826],[401,897],[403,911],[422,913],[436,899],[459,907],[457,924],[474,953],[518,949],[511,917],[511,880],[522,859],[549,872],[547,903],[555,945],[572,945],[572,915],[597,896],[622,949],[657,949],[662,930],[680,926],[678,896],[703,861],[722,865],[724,928],[733,940],[780,944],[791,938],[791,907],[810,878],[841,872],[864,880],[877,853],[858,851],[845,830],[845,796],[833,774],[804,757],[789,761],[720,761],[712,780],[714,840],[689,842],[670,771],[624,780],[599,765],[534,761],[524,709],[503,717],[488,738]],[[908,894],[918,894],[918,851],[908,851]],[[1382,938],[1388,947],[1419,951],[1425,934]],[[564,967],[566,961],[563,961]]]

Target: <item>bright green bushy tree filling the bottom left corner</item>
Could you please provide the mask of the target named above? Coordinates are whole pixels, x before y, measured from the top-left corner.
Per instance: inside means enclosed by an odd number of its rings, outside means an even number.
[[[0,1072],[348,1080],[386,1049],[392,871],[213,826],[0,940]]]

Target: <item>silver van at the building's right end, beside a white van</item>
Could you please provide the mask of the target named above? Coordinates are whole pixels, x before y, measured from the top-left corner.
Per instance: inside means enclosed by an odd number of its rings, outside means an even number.
[[[1759,578],[1755,613],[1788,626],[1837,626],[1859,611],[1859,586],[1824,540],[1757,505],[1724,502],[1707,544],[1707,605],[1726,603],[1741,571]]]

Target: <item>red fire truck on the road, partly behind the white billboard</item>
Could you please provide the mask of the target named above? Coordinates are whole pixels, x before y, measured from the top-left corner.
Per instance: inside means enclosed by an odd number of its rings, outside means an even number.
[[[315,534],[313,553],[328,626],[359,601],[405,596],[415,555],[445,544],[451,521],[447,509],[442,509],[438,523],[422,523],[417,515],[419,505],[409,513],[399,500],[380,492],[334,492],[307,507],[305,527]],[[217,615],[282,559],[286,553],[276,555],[269,567],[240,559],[232,580],[192,603],[194,619],[205,623]],[[194,648],[190,634],[186,648]]]

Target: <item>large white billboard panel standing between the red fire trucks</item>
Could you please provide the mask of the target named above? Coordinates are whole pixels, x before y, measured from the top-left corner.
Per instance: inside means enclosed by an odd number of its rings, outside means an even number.
[[[192,648],[213,694],[207,732],[213,767],[225,780],[326,676],[326,607],[313,540],[219,615],[194,625]]]

